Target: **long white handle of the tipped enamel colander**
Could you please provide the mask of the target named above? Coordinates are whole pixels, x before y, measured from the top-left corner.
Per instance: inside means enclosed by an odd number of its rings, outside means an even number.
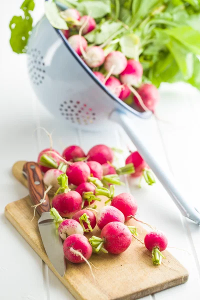
[[[200,213],[196,208],[192,207],[188,203],[188,201],[176,188],[176,184],[174,184],[171,178],[165,173],[165,170],[162,168],[162,166],[158,164],[153,155],[148,151],[147,147],[145,147],[139,135],[135,130],[132,129],[132,122],[130,122],[130,119],[127,117],[126,113],[120,110],[114,110],[110,115],[110,119],[116,121],[123,127],[127,135],[134,143],[140,155],[144,158],[163,187],[171,196],[172,200],[174,201],[182,215],[188,217],[189,219],[200,225]]]

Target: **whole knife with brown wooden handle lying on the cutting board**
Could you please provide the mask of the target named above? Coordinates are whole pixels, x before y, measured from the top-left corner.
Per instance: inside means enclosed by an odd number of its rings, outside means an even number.
[[[28,190],[32,203],[34,205],[41,203],[45,187],[38,163],[33,161],[26,162],[22,172],[28,181]],[[46,254],[56,271],[63,277],[66,263],[62,241],[56,230],[53,218],[50,216],[50,203],[47,194],[44,201],[36,206],[36,210],[40,215],[38,227]]]

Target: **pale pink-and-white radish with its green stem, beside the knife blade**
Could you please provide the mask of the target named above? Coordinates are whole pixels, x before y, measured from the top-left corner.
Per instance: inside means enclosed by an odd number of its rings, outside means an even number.
[[[55,223],[58,233],[63,240],[67,236],[74,233],[83,234],[83,229],[79,222],[73,219],[64,220],[54,207],[50,209],[50,215],[52,216],[53,222]]]

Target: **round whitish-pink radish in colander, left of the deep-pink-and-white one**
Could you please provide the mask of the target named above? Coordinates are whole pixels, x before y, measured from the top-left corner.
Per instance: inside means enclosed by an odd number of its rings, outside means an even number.
[[[111,74],[118,75],[120,74],[127,65],[127,59],[125,55],[120,51],[110,52],[104,62],[104,68],[106,71],[111,70]]]

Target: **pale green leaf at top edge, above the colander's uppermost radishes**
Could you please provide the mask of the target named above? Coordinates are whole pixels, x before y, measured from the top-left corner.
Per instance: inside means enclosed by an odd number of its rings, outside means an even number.
[[[110,13],[110,1],[83,1],[78,3],[77,10],[82,14],[87,14],[93,18],[103,17]]]

